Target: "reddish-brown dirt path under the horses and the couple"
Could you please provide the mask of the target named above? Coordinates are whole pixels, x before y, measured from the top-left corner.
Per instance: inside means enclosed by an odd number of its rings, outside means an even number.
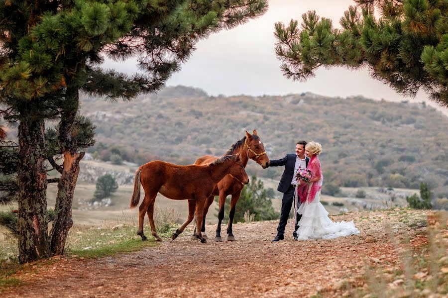
[[[201,244],[187,231],[175,241],[164,239],[160,246],[128,255],[62,258],[2,297],[307,297],[337,289],[372,262],[397,261],[386,217],[386,211],[333,216],[356,219],[361,231],[333,240],[293,241],[288,224],[287,239],[272,243],[277,221],[236,224],[235,242]],[[403,229],[399,222],[393,227],[398,233]],[[208,228],[210,236],[214,228]]]

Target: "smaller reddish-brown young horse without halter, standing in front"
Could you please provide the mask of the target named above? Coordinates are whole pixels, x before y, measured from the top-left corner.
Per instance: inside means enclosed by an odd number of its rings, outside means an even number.
[[[137,206],[140,200],[141,183],[145,191],[145,198],[140,204],[137,235],[140,235],[143,241],[147,239],[143,234],[143,219],[145,213],[148,213],[151,234],[157,241],[162,240],[157,234],[153,219],[157,193],[169,199],[188,200],[187,220],[174,232],[171,239],[176,239],[193,220],[195,208],[196,217],[202,222],[205,201],[225,175],[231,175],[241,185],[249,183],[239,154],[224,156],[201,166],[178,166],[163,161],[152,161],[138,168],[135,172],[134,192],[130,201],[131,208]],[[201,242],[206,242],[206,239],[202,237],[200,227],[196,228],[196,233]]]

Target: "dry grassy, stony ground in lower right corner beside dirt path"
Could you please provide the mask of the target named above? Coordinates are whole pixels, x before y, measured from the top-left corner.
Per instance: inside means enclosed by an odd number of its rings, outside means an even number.
[[[408,215],[398,209],[397,217],[407,226],[394,229],[384,220],[389,241],[393,244],[396,262],[382,263],[371,258],[364,262],[364,274],[347,276],[336,288],[327,288],[313,297],[432,297],[448,295],[448,213],[439,211],[428,218]],[[377,221],[378,218],[368,218]]]

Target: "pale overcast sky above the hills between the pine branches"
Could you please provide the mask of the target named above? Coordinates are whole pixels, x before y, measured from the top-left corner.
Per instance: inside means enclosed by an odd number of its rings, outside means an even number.
[[[200,41],[192,57],[167,85],[198,87],[215,96],[312,92],[332,97],[362,95],[371,99],[407,100],[390,87],[370,78],[367,69],[322,68],[316,72],[315,78],[305,83],[283,77],[274,52],[274,23],[289,22],[291,19],[301,22],[303,13],[315,9],[318,15],[331,18],[334,26],[340,27],[339,18],[353,4],[352,0],[270,0],[269,9],[263,16]],[[105,66],[113,66],[130,74],[136,71],[133,61],[108,61]],[[421,92],[416,99],[409,100],[417,102],[426,98]]]

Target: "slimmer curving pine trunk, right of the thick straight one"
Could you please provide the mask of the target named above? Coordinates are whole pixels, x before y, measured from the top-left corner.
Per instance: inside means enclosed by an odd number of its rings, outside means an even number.
[[[85,152],[77,152],[78,148],[72,141],[71,135],[79,106],[78,88],[67,88],[66,99],[64,109],[61,111],[58,131],[59,146],[64,154],[64,166],[58,184],[56,218],[50,232],[50,249],[55,255],[64,253],[67,235],[73,226],[72,202],[80,169],[79,163],[85,154]]]

